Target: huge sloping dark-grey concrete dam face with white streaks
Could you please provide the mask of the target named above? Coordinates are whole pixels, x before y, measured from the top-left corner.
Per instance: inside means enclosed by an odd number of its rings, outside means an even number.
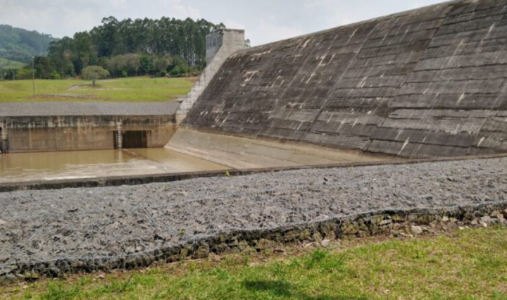
[[[507,151],[507,0],[451,1],[232,55],[195,130],[404,157]]]

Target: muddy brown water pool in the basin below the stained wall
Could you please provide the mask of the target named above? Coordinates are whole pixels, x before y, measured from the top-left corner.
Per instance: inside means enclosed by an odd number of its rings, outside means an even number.
[[[0,154],[0,183],[225,169],[165,148]]]

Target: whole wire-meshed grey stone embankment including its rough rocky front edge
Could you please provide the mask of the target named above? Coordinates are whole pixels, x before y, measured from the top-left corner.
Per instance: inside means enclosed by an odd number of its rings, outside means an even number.
[[[1,282],[505,224],[507,158],[0,193]]]

